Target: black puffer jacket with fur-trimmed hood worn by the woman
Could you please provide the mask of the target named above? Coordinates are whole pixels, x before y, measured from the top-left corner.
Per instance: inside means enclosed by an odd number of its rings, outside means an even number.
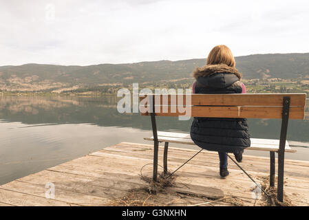
[[[193,72],[195,94],[241,94],[241,74],[227,65],[206,65]],[[191,139],[209,151],[239,153],[251,145],[246,118],[194,118]]]

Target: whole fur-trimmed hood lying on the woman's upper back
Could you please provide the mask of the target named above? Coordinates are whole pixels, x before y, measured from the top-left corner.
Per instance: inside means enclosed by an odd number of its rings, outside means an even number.
[[[204,87],[226,88],[226,87],[241,87],[240,74],[237,69],[228,65],[206,65],[204,67],[195,68],[193,73],[198,84]]]

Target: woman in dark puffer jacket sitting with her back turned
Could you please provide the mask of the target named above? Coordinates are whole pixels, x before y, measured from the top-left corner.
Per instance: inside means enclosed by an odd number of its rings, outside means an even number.
[[[235,58],[225,45],[218,45],[207,57],[206,66],[194,69],[193,94],[245,94],[242,74],[235,68]],[[191,125],[193,142],[209,151],[217,151],[220,176],[228,173],[226,153],[234,153],[242,162],[244,148],[251,145],[246,118],[194,118]]]

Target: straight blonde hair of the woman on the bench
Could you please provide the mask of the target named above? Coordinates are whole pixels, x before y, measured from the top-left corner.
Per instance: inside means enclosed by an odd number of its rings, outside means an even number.
[[[226,64],[229,67],[235,68],[235,58],[226,45],[217,45],[209,53],[206,65]]]

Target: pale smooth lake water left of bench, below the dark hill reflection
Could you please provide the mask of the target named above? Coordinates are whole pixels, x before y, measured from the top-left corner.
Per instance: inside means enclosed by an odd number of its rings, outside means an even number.
[[[93,124],[25,126],[0,122],[0,184],[56,166],[119,142],[146,143],[139,129]],[[149,144],[149,143],[148,143]]]

